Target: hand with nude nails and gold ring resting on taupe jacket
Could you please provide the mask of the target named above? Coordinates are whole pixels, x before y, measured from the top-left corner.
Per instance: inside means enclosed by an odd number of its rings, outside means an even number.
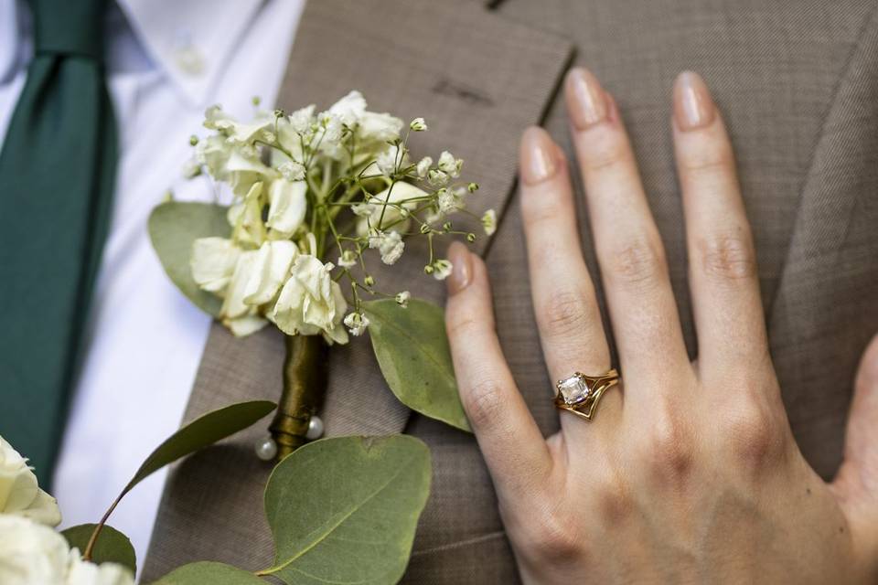
[[[455,372],[522,578],[876,582],[878,343],[863,358],[844,464],[826,484],[789,429],[732,148],[701,79],[680,75],[672,122],[695,363],[616,103],[583,69],[568,77],[566,96],[624,380],[594,420],[560,411],[561,430],[543,439],[498,343],[486,267],[463,246],[450,250]],[[603,374],[610,353],[562,150],[531,128],[520,167],[532,298],[551,378]]]

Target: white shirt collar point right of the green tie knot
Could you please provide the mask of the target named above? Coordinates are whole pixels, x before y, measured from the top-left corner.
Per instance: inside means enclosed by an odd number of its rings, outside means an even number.
[[[263,0],[116,2],[184,99],[203,107]]]

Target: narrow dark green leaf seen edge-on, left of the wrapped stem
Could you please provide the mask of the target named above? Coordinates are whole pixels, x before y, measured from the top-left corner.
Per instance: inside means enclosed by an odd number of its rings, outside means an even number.
[[[123,495],[131,491],[148,475],[180,457],[212,445],[226,437],[242,431],[266,414],[274,410],[276,405],[270,400],[251,400],[238,402],[219,410],[213,410],[198,417],[179,431],[168,437],[165,442],[150,453],[146,461],[134,473],[134,477],[123,489]]]

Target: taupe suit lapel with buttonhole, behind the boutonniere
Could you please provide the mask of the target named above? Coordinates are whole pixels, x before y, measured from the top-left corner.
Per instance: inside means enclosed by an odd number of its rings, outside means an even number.
[[[356,88],[372,110],[423,115],[430,131],[412,141],[412,156],[435,158],[448,148],[463,157],[466,176],[482,186],[472,210],[499,213],[514,183],[519,133],[540,120],[569,56],[565,42],[508,23],[474,0],[316,0],[299,23],[278,105],[326,107]],[[476,242],[476,250],[484,253],[487,243]],[[444,287],[421,273],[423,248],[407,246],[401,263],[374,272],[383,290],[441,298]],[[408,410],[386,388],[369,341],[330,354],[327,433],[402,431]],[[277,399],[283,359],[277,331],[240,340],[214,324],[186,420],[241,399]],[[266,424],[172,470],[142,580],[205,558],[247,568],[271,562],[261,497],[271,467],[252,452]]]

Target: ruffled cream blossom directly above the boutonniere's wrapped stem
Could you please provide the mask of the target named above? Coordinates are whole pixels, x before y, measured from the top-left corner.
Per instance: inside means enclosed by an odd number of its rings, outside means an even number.
[[[270,314],[286,335],[322,333],[327,341],[348,343],[348,332],[338,326],[348,303],[330,276],[332,269],[332,264],[324,264],[310,254],[295,259],[292,274]]]

